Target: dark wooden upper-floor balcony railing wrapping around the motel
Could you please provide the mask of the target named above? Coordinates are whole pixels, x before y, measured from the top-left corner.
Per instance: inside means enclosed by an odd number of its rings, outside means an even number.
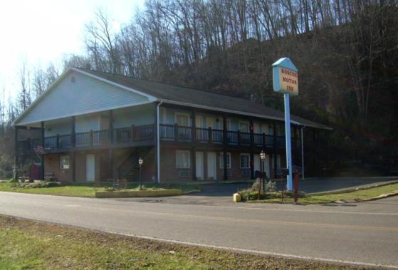
[[[286,145],[285,136],[273,136],[259,133],[243,133],[240,131],[226,131],[227,145],[278,147]],[[112,135],[112,136],[111,136]],[[174,142],[198,142],[210,144],[224,143],[224,130],[212,128],[192,128],[179,125],[159,125],[160,140]],[[57,135],[45,137],[43,148],[45,151],[66,150],[72,147],[97,147],[115,144],[129,144],[155,138],[154,125],[132,125],[129,128],[115,128],[110,130],[96,130],[75,135]],[[195,140],[192,140],[194,138]],[[28,154],[38,152],[40,139],[19,141],[19,153]],[[292,137],[292,147],[300,147],[300,139]]]

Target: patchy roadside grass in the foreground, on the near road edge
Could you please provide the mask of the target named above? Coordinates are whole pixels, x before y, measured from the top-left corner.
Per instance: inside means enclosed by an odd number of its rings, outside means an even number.
[[[0,269],[357,269],[0,216]]]

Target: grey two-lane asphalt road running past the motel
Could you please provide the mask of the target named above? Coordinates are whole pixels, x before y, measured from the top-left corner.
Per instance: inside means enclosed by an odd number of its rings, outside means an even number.
[[[259,254],[398,268],[398,197],[344,206],[205,206],[0,192],[0,214]]]

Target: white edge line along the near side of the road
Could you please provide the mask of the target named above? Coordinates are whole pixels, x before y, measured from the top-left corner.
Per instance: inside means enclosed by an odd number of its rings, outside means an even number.
[[[147,240],[154,240],[154,241],[160,241],[160,242],[167,242],[167,243],[172,243],[172,244],[183,244],[183,245],[188,245],[188,246],[200,246],[200,247],[211,248],[211,249],[222,249],[222,250],[226,250],[226,251],[237,251],[237,252],[258,254],[258,255],[278,256],[278,257],[284,257],[284,258],[288,258],[288,259],[304,259],[304,260],[310,260],[310,261],[324,261],[324,262],[337,263],[337,264],[352,264],[352,265],[358,265],[358,266],[386,267],[386,268],[389,268],[389,269],[398,269],[398,266],[396,266],[396,265],[372,264],[372,263],[367,263],[367,262],[363,262],[363,261],[345,261],[345,260],[340,260],[340,259],[327,259],[327,258],[318,258],[318,257],[312,257],[312,256],[300,256],[300,255],[283,254],[283,253],[276,253],[276,252],[270,252],[270,251],[259,251],[259,250],[252,250],[252,249],[239,249],[239,248],[230,247],[230,246],[216,246],[216,245],[212,245],[212,244],[200,244],[200,243],[184,242],[184,241],[172,240],[172,239],[162,239],[162,238],[156,238],[156,237],[144,237],[144,236],[141,236],[141,235],[125,234],[125,233],[112,232],[112,231],[106,231],[106,230],[102,231],[102,232],[108,232],[110,234],[119,234],[119,235],[126,236],[126,237],[136,237],[136,238],[139,238],[139,239],[147,239]]]

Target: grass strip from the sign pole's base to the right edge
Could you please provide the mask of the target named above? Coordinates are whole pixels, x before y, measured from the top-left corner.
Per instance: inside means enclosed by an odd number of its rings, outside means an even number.
[[[398,183],[392,185],[385,185],[382,187],[373,187],[370,189],[363,189],[357,190],[355,192],[347,192],[347,193],[338,193],[338,194],[325,194],[325,195],[310,195],[306,194],[303,197],[298,198],[298,202],[303,204],[320,204],[320,203],[328,203],[334,202],[337,200],[345,199],[345,200],[352,200],[352,199],[370,199],[373,197],[377,197],[381,194],[391,193],[398,190]],[[276,198],[275,198],[276,197]],[[275,197],[272,199],[261,199],[258,200],[251,200],[248,202],[282,202],[281,195],[275,194]],[[285,197],[283,202],[292,203],[293,197]]]

